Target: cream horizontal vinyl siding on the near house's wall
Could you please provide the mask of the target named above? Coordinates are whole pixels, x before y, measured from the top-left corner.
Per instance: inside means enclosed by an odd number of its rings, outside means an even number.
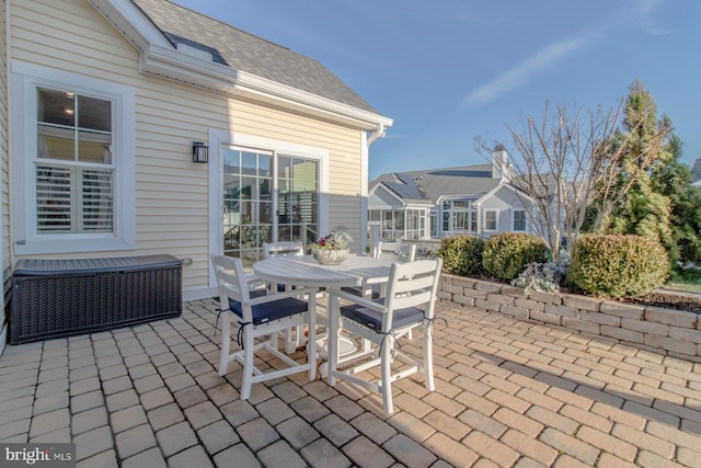
[[[357,222],[353,235],[359,246],[360,129],[139,73],[138,50],[84,0],[13,2],[12,14],[13,59],[136,90],[137,249],[54,256],[192,258],[193,264],[183,270],[184,288],[206,287],[208,254],[217,246],[208,246],[208,164],[192,162],[192,141],[207,141],[209,129],[326,149],[332,181],[329,226]]]

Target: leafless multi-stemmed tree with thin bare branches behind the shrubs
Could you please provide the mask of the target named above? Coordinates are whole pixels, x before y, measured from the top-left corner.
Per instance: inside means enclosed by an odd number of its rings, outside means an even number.
[[[614,168],[627,141],[614,141],[623,100],[607,112],[588,112],[545,103],[540,119],[528,116],[522,132],[509,125],[515,151],[508,155],[510,183],[533,229],[556,259],[562,239],[572,246],[586,220],[586,208],[597,197],[618,194]],[[587,115],[588,114],[588,115]],[[492,158],[493,145],[475,138],[478,152]],[[608,209],[608,208],[607,208]]]

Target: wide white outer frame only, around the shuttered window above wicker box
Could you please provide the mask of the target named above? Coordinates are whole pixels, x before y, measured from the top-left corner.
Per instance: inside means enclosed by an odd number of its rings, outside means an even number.
[[[136,248],[136,92],[131,87],[12,60],[12,233],[14,253],[69,253]],[[114,199],[111,233],[36,232],[37,88],[66,90],[112,102]]]

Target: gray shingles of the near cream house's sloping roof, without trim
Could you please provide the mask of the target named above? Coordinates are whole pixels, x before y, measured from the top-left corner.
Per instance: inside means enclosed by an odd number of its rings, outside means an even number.
[[[235,70],[379,114],[318,60],[168,0],[133,1],[174,46],[184,43]]]

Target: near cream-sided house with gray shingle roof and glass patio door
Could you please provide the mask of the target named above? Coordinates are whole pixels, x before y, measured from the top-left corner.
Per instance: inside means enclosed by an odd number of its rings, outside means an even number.
[[[5,290],[22,258],[169,253],[188,300],[215,292],[211,252],[341,224],[365,247],[392,119],[317,60],[166,0],[0,9]]]

